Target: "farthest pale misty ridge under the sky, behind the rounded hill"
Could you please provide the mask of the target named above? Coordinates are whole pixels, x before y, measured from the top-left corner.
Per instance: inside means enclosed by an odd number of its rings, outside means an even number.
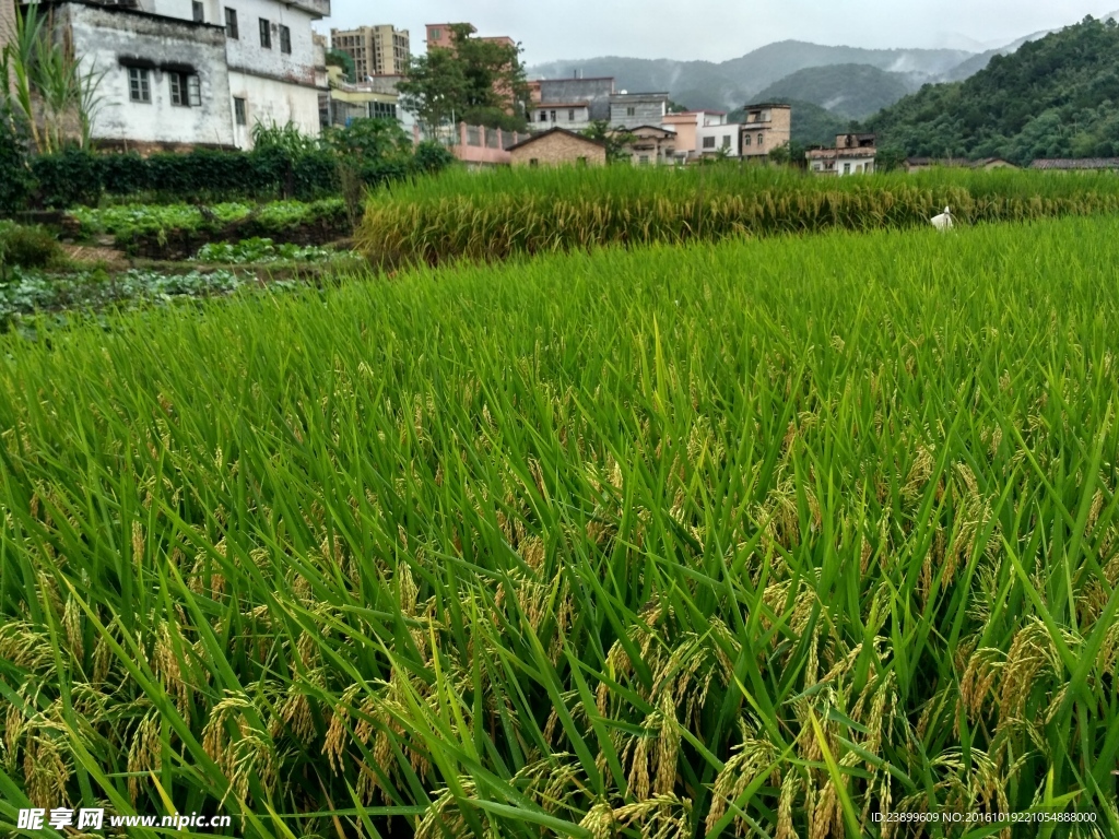
[[[787,40],[718,64],[606,56],[540,64],[529,67],[528,75],[565,78],[579,72],[585,77],[613,76],[619,89],[665,91],[688,107],[733,110],[756,98],[774,82],[811,67],[868,65],[906,74],[911,84],[920,84],[940,78],[971,56],[958,49],[862,49]]]

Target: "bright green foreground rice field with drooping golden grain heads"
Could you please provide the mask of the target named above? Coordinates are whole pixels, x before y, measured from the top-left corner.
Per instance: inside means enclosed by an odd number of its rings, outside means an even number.
[[[1117,265],[831,232],[0,337],[0,828],[1116,835]]]

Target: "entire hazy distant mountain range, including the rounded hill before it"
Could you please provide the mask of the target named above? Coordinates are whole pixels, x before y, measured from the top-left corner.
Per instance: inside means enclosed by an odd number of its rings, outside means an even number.
[[[1104,18],[1119,17],[1115,12]],[[612,76],[619,89],[667,92],[689,109],[734,111],[750,102],[808,102],[844,120],[862,120],[923,85],[960,82],[995,56],[1015,53],[1047,31],[997,49],[863,49],[784,40],[727,62],[605,56],[528,68],[529,78]]]

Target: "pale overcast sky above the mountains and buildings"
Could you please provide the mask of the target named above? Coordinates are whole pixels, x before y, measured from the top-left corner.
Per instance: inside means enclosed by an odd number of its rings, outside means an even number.
[[[528,65],[618,55],[723,62],[784,39],[980,50],[1119,9],[1119,0],[333,0],[319,28],[392,23],[424,50],[425,23],[508,35]]]

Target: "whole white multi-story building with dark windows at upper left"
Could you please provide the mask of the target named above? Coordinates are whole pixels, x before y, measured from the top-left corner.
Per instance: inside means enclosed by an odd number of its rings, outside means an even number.
[[[319,132],[329,0],[65,0],[57,37],[100,76],[92,135],[159,149],[252,145],[256,123]]]

